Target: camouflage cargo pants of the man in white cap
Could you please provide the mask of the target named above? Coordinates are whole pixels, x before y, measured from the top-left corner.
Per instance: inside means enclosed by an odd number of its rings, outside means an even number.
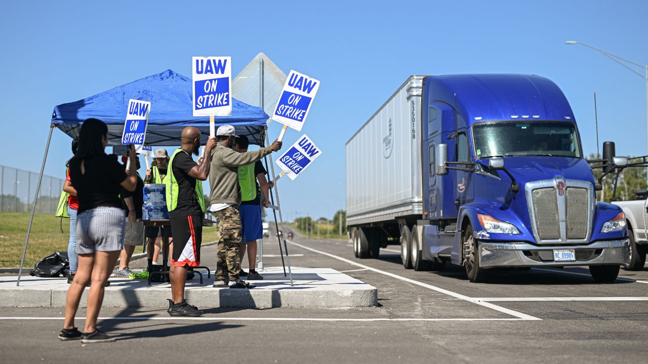
[[[241,245],[241,216],[237,205],[214,212],[218,227],[218,253],[216,253],[216,273],[214,279],[238,280],[241,271],[238,248]]]

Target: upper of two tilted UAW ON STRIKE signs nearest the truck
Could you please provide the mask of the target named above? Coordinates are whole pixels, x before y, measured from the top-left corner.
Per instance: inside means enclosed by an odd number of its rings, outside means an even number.
[[[272,119],[300,131],[318,89],[318,80],[290,70]]]

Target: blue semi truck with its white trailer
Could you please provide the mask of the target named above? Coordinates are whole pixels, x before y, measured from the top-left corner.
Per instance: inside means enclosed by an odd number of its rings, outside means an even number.
[[[625,216],[597,201],[592,168],[625,166],[606,142],[586,161],[561,89],[526,74],[410,76],[346,144],[347,229],[358,258],[400,245],[402,264],[588,266],[612,282],[627,264]]]

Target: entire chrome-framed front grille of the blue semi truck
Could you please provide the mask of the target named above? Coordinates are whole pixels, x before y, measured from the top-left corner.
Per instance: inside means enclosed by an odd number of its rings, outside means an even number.
[[[562,196],[559,196],[558,187],[564,188]],[[587,243],[594,208],[591,183],[553,179],[527,183],[526,189],[538,243]]]

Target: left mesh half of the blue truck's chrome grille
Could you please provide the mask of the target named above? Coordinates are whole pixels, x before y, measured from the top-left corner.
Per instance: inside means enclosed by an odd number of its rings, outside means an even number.
[[[540,240],[559,240],[561,238],[558,217],[558,199],[553,187],[536,188],[531,192],[533,214]]]

